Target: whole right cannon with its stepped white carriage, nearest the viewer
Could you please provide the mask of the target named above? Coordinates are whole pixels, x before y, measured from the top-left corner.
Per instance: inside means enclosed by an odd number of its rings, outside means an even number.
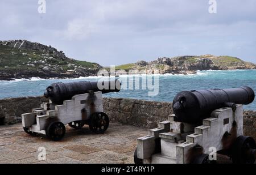
[[[254,163],[256,144],[243,135],[242,106],[254,97],[247,86],[178,93],[168,121],[137,139],[134,162],[208,164],[222,155],[233,163]]]

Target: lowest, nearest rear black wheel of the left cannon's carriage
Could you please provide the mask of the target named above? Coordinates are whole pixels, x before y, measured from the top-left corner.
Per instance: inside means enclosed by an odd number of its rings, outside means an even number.
[[[61,140],[65,135],[65,125],[61,122],[52,122],[46,129],[46,136],[54,141]]]

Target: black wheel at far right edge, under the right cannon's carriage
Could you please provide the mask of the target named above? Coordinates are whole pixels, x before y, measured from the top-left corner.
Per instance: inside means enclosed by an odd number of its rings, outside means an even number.
[[[253,164],[255,157],[250,150],[256,150],[255,140],[249,136],[240,135],[232,146],[232,161],[234,164]]]

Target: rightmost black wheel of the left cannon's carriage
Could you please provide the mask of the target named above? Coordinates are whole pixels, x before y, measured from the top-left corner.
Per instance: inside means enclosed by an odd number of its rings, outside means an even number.
[[[109,117],[104,112],[93,113],[89,121],[90,130],[97,134],[104,134],[109,127]]]

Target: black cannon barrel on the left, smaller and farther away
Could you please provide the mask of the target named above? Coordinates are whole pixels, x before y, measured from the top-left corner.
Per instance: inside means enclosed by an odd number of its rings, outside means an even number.
[[[74,95],[88,93],[89,91],[101,91],[102,93],[109,93],[119,92],[120,89],[121,83],[119,80],[101,82],[52,83],[51,86],[46,88],[44,96],[51,99],[53,104],[63,104],[64,100],[71,100]]]

